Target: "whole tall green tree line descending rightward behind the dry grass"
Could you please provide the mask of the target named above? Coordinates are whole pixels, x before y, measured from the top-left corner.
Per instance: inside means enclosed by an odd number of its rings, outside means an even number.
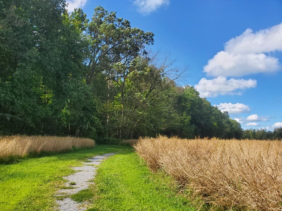
[[[152,32],[97,6],[89,20],[65,0],[0,0],[0,134],[111,138],[241,138],[168,57]],[[245,134],[245,132],[244,132]]]

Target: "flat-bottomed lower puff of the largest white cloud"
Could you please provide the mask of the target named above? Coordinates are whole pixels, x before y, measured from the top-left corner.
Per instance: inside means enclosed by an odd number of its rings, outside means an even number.
[[[204,72],[210,76],[245,76],[275,72],[277,69],[279,69],[278,58],[263,53],[243,55],[226,51],[218,52],[204,66]]]

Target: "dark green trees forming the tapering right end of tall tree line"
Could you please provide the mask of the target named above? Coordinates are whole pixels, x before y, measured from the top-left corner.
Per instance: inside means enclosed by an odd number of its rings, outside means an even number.
[[[241,125],[231,120],[227,112],[222,113],[205,98],[200,98],[194,87],[179,87],[177,93],[174,108],[180,122],[175,129],[176,135],[184,138],[241,137]]]

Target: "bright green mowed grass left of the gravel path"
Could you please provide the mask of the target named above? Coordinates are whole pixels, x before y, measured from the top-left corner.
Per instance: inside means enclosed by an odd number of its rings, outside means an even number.
[[[0,210],[54,210],[56,190],[64,185],[62,176],[74,173],[71,166],[110,152],[132,150],[119,145],[96,145],[92,149],[22,160],[0,165]]]

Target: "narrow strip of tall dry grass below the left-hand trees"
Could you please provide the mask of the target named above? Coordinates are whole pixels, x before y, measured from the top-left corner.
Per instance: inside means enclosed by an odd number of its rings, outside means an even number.
[[[81,147],[93,147],[95,142],[87,138],[57,136],[13,135],[0,137],[0,157],[20,155],[30,152],[58,152]]]

